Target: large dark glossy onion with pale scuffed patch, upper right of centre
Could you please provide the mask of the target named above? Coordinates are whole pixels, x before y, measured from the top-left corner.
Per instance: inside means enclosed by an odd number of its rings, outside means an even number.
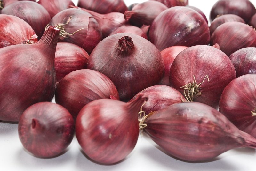
[[[148,36],[160,51],[176,45],[190,47],[210,42],[210,30],[204,18],[195,10],[180,6],[161,12]]]

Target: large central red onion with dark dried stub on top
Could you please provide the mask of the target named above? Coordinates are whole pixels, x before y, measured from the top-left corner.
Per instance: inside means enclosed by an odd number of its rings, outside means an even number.
[[[163,58],[156,47],[129,33],[114,34],[101,41],[90,55],[87,68],[110,78],[124,101],[159,84],[164,76]]]

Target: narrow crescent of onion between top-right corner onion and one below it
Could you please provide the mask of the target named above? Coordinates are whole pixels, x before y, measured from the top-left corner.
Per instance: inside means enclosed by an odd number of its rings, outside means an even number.
[[[231,22],[231,21],[237,21],[237,22],[241,22],[241,23],[245,24],[244,19],[242,19],[238,15],[235,15],[235,14],[224,14],[224,15],[221,15],[219,17],[216,17],[212,21],[211,26],[209,27],[211,35],[216,30],[216,28],[218,26],[222,25],[223,23],[227,23],[227,22]]]

